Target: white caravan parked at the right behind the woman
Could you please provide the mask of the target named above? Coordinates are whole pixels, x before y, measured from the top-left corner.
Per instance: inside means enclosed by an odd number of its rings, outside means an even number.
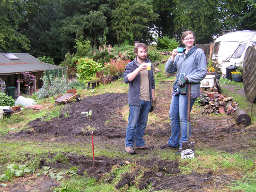
[[[219,63],[222,74],[226,67],[232,65],[242,67],[248,46],[256,44],[256,31],[236,31],[218,37],[214,42],[212,60]]]

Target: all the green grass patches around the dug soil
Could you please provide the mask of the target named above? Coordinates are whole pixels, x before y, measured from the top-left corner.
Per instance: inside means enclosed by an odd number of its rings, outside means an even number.
[[[167,60],[169,56],[165,56],[161,60]],[[162,73],[158,73],[155,75],[156,78],[156,89],[164,90],[164,87],[159,86],[159,82],[162,80],[169,81],[170,84],[175,80],[175,76],[166,78],[166,74],[164,73],[164,64],[160,64],[158,66],[162,70]],[[228,82],[233,84],[233,82]],[[242,88],[241,83],[234,83],[234,85]],[[93,96],[98,94],[104,94],[106,92],[114,92],[114,93],[127,93],[128,84],[125,84],[123,80],[116,80],[111,84],[106,84],[105,86],[100,85],[95,88],[94,91],[86,90],[86,89],[78,89],[78,93],[82,97]],[[170,90],[171,91],[171,90]],[[156,98],[159,92],[156,91]],[[240,96],[233,92],[223,89],[223,93],[226,96],[232,96],[234,101],[239,103],[239,106],[244,110],[250,110],[250,103],[247,102],[246,97]],[[26,129],[26,124],[34,120],[36,118],[44,118],[45,120],[50,120],[51,118],[58,117],[60,115],[61,110],[63,110],[63,106],[55,106],[54,110],[52,110],[52,106],[54,105],[54,98],[48,98],[45,100],[40,100],[38,103],[45,105],[44,109],[39,111],[34,110],[23,110],[20,114],[15,116],[11,116],[10,119],[3,119],[0,121],[0,135],[6,136],[8,133],[18,132],[20,130]],[[255,106],[255,104],[254,104]],[[196,104],[193,107],[192,113],[193,115],[200,115],[199,111],[202,107],[197,106]],[[248,108],[248,109],[247,109]],[[254,107],[254,116],[255,116]],[[168,111],[166,111],[168,113]],[[124,120],[128,120],[129,114],[129,106],[125,105],[120,109],[120,114],[124,117]],[[68,113],[66,114],[68,116]],[[224,115],[216,115],[216,114],[208,114],[209,118],[214,119],[222,119]],[[114,118],[110,117],[110,118]],[[160,119],[156,116],[156,114],[152,113],[149,115],[148,124],[154,124],[155,121],[169,122],[169,120]],[[255,117],[252,118],[252,122],[255,126]],[[108,120],[105,122],[108,123]],[[86,126],[81,128],[84,132],[91,130],[90,126]],[[79,136],[78,136],[79,137]],[[148,139],[148,135],[145,135],[145,138]],[[92,146],[88,141],[80,141],[80,142],[63,142],[62,138],[59,137],[58,141],[52,138],[52,142],[44,142],[43,140],[33,141],[33,140],[8,140],[2,139],[0,140],[0,174],[6,172],[7,166],[10,164],[28,164],[28,167],[34,170],[32,174],[36,175],[39,170],[41,160],[46,162],[62,162],[68,164],[68,158],[64,155],[67,154],[79,154],[83,156],[92,157]],[[256,147],[256,141],[249,141],[252,146]],[[140,154],[136,154],[134,156],[130,156],[129,154],[124,153],[120,150],[119,146],[122,144],[101,144],[101,141],[94,140],[95,147],[94,153],[95,156],[105,156],[108,158],[120,158],[132,162],[136,159],[148,160],[151,158],[152,154],[144,154],[141,156]],[[118,146],[116,146],[118,145]],[[180,174],[191,174],[193,172],[198,173],[207,173],[209,170],[214,171],[216,175],[218,174],[237,174],[236,180],[232,181],[226,187],[223,187],[223,191],[231,190],[231,191],[256,191],[256,171],[255,171],[255,150],[250,149],[247,152],[239,152],[236,154],[231,154],[229,152],[222,152],[214,149],[206,149],[200,148],[196,151],[196,157],[194,159],[180,159],[180,156],[175,155],[176,150],[160,150],[155,149],[153,151],[153,155],[158,157],[160,160],[176,160],[179,163],[179,168],[181,170]],[[51,155],[52,157],[50,157]],[[130,159],[130,160],[129,160]],[[79,168],[79,166],[77,167]],[[138,190],[139,181],[143,177],[143,172],[146,168],[142,168],[141,172],[136,176],[134,186],[128,187],[127,185],[119,190],[116,190],[115,186],[118,184],[123,174],[128,172],[132,173],[134,170],[138,168],[138,165],[135,163],[130,163],[125,166],[113,166],[112,172],[105,174],[100,180],[96,180],[94,178],[89,178],[88,175],[79,176],[66,176],[60,180],[61,185],[55,187],[52,191],[55,192],[117,192],[117,191],[127,191],[127,192],[149,192],[152,188],[151,184],[149,184],[149,188],[146,190]],[[141,167],[140,167],[141,168]],[[62,168],[64,169],[64,168]],[[65,170],[65,169],[64,169]],[[56,170],[56,173],[58,170]],[[114,175],[115,178],[108,183],[106,182],[107,178],[110,175]],[[12,180],[10,180],[12,181]],[[4,184],[8,182],[4,182]],[[2,182],[0,182],[2,184]],[[151,189],[150,189],[151,188]],[[171,188],[171,186],[170,186]],[[170,189],[171,190],[171,189]],[[161,190],[161,192],[167,192],[170,190]]]

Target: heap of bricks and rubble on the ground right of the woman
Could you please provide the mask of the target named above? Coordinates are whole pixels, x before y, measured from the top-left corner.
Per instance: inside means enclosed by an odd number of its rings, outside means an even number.
[[[201,103],[204,106],[200,114],[234,114],[238,110],[238,103],[233,101],[232,97],[226,98],[219,93],[208,93],[207,97],[200,96]]]

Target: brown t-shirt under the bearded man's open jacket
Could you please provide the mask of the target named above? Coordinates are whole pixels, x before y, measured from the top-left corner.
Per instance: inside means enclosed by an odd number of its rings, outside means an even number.
[[[138,66],[140,66],[140,64],[141,63],[138,62]],[[140,99],[150,101],[148,70],[140,72]]]

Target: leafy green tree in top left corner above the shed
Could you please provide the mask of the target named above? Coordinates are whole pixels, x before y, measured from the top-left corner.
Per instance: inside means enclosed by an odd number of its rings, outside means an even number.
[[[0,3],[0,52],[29,50],[29,40],[22,35],[26,6],[22,0],[2,0]]]

